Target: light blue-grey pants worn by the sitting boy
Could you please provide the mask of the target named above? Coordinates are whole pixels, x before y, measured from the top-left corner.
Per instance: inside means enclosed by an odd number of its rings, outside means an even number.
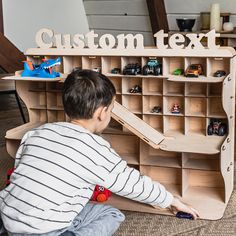
[[[110,236],[115,233],[124,219],[124,214],[116,208],[109,205],[88,203],[68,228],[45,234],[16,234],[10,232],[8,234],[10,236]],[[4,231],[0,219],[1,232]]]

